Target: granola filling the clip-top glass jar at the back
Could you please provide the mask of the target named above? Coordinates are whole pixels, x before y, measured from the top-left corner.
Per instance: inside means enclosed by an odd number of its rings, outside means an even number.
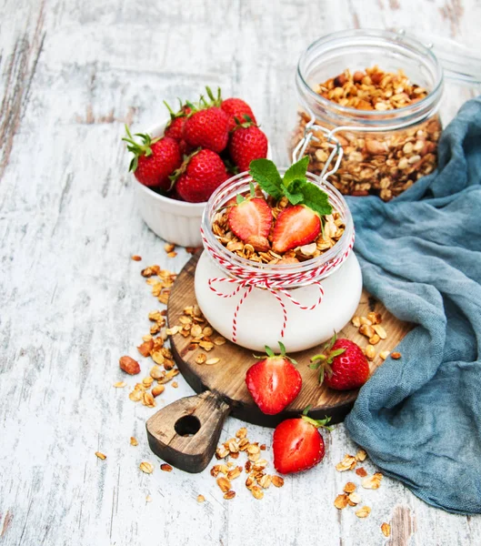
[[[426,89],[411,84],[402,70],[384,72],[378,66],[328,79],[317,93],[340,106],[361,111],[392,111],[412,105],[427,96]],[[304,136],[310,116],[299,113],[299,126],[293,136],[293,148]],[[318,125],[325,125],[322,121]],[[319,174],[326,165],[330,147],[324,133],[315,133],[307,148],[309,170]],[[344,156],[332,184],[343,194],[378,195],[385,201],[398,196],[436,168],[436,147],[441,135],[438,116],[400,131],[386,133],[337,133]]]

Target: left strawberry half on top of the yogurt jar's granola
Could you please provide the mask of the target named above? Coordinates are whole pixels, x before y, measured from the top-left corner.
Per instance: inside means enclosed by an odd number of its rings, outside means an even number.
[[[241,198],[229,211],[229,227],[243,241],[254,235],[266,238],[272,226],[271,207],[263,197]]]

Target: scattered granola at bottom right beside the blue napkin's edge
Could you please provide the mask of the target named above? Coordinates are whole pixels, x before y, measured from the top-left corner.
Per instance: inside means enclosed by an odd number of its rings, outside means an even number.
[[[376,472],[373,476],[368,476],[366,470],[363,467],[358,467],[358,462],[366,460],[367,454],[365,450],[358,450],[356,455],[346,454],[345,458],[341,462],[336,464],[336,470],[339,472],[346,472],[347,470],[355,470],[357,476],[362,478],[361,486],[364,489],[377,490],[381,486],[381,480],[383,475],[380,472]],[[348,481],[344,486],[342,493],[337,495],[334,505],[337,510],[344,510],[346,506],[357,506],[362,501],[361,496],[356,492],[357,486],[353,481]],[[360,519],[367,518],[371,513],[369,506],[363,506],[356,511],[356,516]],[[381,525],[381,531],[388,537],[391,532],[391,527],[388,523]]]

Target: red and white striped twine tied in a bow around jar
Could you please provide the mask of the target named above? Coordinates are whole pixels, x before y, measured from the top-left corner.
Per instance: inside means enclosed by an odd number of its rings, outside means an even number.
[[[215,248],[208,242],[205,238],[204,229],[201,227],[201,235],[204,241],[205,249],[209,252],[210,256],[214,258],[214,261],[217,266],[223,269],[230,277],[214,277],[208,279],[209,288],[219,297],[219,298],[233,298],[238,294],[243,288],[245,292],[242,297],[239,299],[237,305],[235,306],[234,317],[232,319],[232,340],[235,342],[237,339],[237,317],[239,310],[242,304],[246,301],[247,296],[252,292],[253,288],[265,288],[268,290],[279,302],[279,305],[282,308],[283,312],[283,325],[281,329],[281,338],[284,338],[287,326],[287,309],[286,305],[281,298],[280,294],[284,294],[286,298],[290,299],[294,305],[298,308],[310,311],[315,309],[322,302],[324,296],[324,288],[319,280],[325,276],[329,271],[340,266],[346,258],[351,253],[352,248],[354,247],[354,231],[353,238],[349,243],[349,246],[346,248],[346,251],[335,259],[332,259],[322,266],[317,268],[312,268],[307,271],[301,271],[298,273],[282,273],[282,272],[266,272],[266,271],[252,271],[246,269],[242,266],[233,264],[229,259],[222,257],[218,254]],[[227,283],[237,285],[232,292],[225,293],[215,288],[215,283]],[[319,288],[319,296],[316,298],[316,301],[311,305],[302,305],[293,295],[288,291],[288,288],[306,286],[306,285],[316,285]]]

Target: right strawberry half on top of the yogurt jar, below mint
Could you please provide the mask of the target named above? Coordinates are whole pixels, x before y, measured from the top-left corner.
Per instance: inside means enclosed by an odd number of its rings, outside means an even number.
[[[292,248],[316,240],[321,231],[321,219],[311,208],[303,205],[286,207],[277,217],[272,248],[282,254]]]

